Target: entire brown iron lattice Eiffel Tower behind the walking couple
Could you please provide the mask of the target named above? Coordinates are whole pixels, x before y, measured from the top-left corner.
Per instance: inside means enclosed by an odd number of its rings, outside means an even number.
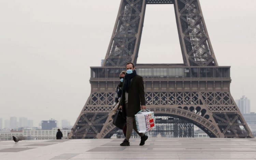
[[[174,5],[184,64],[136,63],[147,4]],[[91,67],[91,93],[69,138],[116,133],[110,113],[127,62],[143,76],[146,106],[156,115],[186,120],[210,137],[253,138],[230,94],[230,67],[216,61],[199,0],[121,0],[103,66]]]

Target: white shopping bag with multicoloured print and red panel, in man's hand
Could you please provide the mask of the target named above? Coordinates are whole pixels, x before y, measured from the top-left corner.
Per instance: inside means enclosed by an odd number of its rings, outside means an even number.
[[[145,133],[156,128],[154,112],[150,110],[141,110],[138,112],[135,115],[135,122],[139,133]]]

